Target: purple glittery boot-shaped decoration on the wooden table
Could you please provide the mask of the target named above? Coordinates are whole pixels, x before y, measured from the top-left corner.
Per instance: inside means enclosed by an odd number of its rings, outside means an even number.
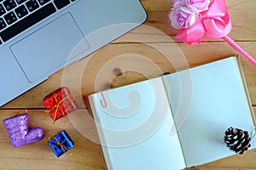
[[[3,120],[3,124],[9,133],[11,144],[15,148],[44,139],[44,130],[41,127],[28,129],[27,113],[9,117]]]

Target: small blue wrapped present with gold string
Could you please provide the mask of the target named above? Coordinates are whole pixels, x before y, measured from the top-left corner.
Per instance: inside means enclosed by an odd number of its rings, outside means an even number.
[[[57,157],[66,153],[67,150],[73,148],[73,140],[69,137],[65,130],[57,133],[53,138],[48,141],[49,147],[55,152]]]

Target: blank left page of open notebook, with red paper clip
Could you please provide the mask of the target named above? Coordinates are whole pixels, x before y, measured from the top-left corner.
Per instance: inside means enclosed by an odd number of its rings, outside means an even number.
[[[161,77],[93,94],[90,105],[108,169],[185,167]]]

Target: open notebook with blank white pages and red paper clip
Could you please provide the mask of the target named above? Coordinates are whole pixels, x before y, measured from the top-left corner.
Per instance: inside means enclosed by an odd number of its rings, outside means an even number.
[[[234,155],[225,130],[254,127],[243,82],[230,57],[90,95],[108,169],[176,170]]]

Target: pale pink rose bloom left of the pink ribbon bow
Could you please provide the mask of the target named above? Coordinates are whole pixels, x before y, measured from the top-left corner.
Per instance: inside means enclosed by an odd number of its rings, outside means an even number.
[[[184,1],[183,1],[184,2]],[[179,3],[177,5],[177,3]],[[172,12],[169,15],[172,27],[179,30],[182,28],[188,28],[195,23],[198,14],[191,10],[191,8],[186,7],[186,4],[181,1],[176,0],[173,4]]]

